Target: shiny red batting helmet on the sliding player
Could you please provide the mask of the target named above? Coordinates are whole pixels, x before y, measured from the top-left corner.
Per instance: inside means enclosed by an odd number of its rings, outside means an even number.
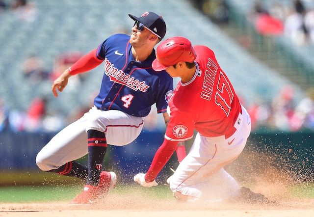
[[[155,71],[162,71],[180,61],[193,62],[196,58],[191,42],[183,37],[172,37],[161,42],[156,56],[152,64]]]

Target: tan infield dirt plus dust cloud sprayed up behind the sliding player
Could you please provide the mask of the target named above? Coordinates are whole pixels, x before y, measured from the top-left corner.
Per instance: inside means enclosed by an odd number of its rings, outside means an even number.
[[[264,194],[275,204],[178,202],[172,196],[158,197],[150,188],[122,187],[112,190],[92,205],[68,205],[69,201],[0,203],[0,217],[312,217],[314,189],[298,196],[289,188],[306,184],[291,171],[273,166],[271,157],[243,153],[226,167],[239,182],[254,192]],[[311,180],[308,180],[311,181]],[[310,182],[311,183],[311,182]],[[162,185],[162,184],[161,184]],[[121,187],[119,187],[121,188]],[[138,189],[137,189],[138,188]],[[143,189],[144,193],[143,193]],[[170,191],[170,189],[169,189]],[[169,195],[169,194],[167,194]],[[170,194],[171,195],[171,194]]]

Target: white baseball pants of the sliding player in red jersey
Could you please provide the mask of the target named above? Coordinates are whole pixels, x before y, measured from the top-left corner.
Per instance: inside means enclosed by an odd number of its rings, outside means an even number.
[[[237,195],[239,186],[223,167],[240,155],[251,132],[251,119],[243,107],[239,118],[240,124],[235,123],[236,131],[229,138],[197,134],[170,181],[179,199],[216,202]]]

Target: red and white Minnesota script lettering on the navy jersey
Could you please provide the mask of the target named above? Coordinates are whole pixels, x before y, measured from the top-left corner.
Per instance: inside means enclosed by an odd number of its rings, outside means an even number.
[[[105,58],[105,74],[110,78],[110,81],[123,84],[135,91],[146,92],[150,88],[149,85],[145,84],[145,81],[139,81],[122,70],[115,68],[107,58]]]

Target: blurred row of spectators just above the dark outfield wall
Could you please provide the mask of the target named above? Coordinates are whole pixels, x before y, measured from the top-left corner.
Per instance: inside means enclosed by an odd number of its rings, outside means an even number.
[[[306,92],[304,99],[294,98],[293,88],[285,86],[280,93],[270,102],[256,99],[251,105],[245,105],[251,119],[252,131],[275,130],[295,132],[314,130],[314,88]],[[36,97],[26,111],[9,110],[0,101],[0,131],[15,132],[56,132],[80,118],[93,105],[93,97],[84,107],[75,108],[70,115],[47,112],[47,99]],[[152,112],[146,117],[144,129],[151,131],[160,130],[157,112]]]

